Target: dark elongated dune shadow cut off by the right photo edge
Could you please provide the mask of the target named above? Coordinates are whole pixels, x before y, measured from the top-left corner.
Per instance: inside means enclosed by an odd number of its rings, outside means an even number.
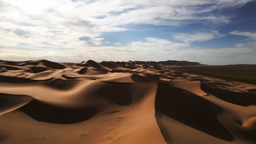
[[[221,88],[216,88],[208,84],[202,83],[201,89],[217,98],[220,98],[226,102],[237,104],[240,106],[256,105],[256,92],[232,92]]]

